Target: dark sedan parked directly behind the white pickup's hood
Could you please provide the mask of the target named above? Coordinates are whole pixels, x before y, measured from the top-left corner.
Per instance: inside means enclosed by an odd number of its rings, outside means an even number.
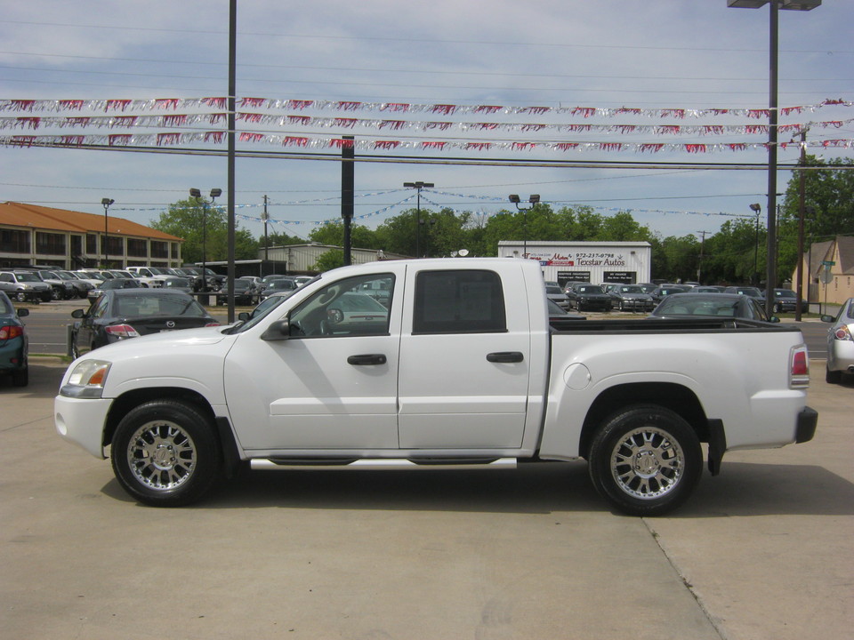
[[[108,289],[88,309],[71,317],[71,350],[79,357],[92,349],[149,333],[216,326],[214,316],[193,297],[164,289]]]

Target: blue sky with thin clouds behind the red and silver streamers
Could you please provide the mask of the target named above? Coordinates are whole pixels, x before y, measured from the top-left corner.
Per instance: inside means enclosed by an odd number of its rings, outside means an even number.
[[[174,113],[204,111],[187,107],[192,99],[225,96],[228,88],[227,0],[181,3],[77,3],[30,0],[4,3],[0,24],[0,104],[8,100],[179,99]],[[780,124],[812,123],[808,140],[854,139],[854,107],[825,106],[827,99],[854,101],[854,2],[825,0],[811,12],[780,12],[779,105],[805,107],[780,117]],[[726,0],[434,0],[402,4],[391,0],[361,3],[315,0],[312,3],[246,0],[238,5],[238,97],[313,100],[316,104],[359,102],[352,112],[337,108],[246,108],[268,118],[238,124],[259,132],[264,141],[238,149],[280,151],[279,138],[305,136],[310,150],[331,153],[328,140],[355,135],[360,145],[394,140],[397,150],[359,148],[374,156],[438,156],[469,160],[658,161],[757,163],[767,152],[754,148],[767,134],[745,127],[766,124],[748,109],[768,107],[769,10],[731,9]],[[365,105],[406,103],[404,115]],[[451,115],[425,112],[424,106],[454,105]],[[472,114],[478,105],[500,106],[495,114]],[[417,107],[417,108],[416,108]],[[547,113],[523,114],[519,108],[545,107]],[[595,108],[583,117],[568,108]],[[632,112],[615,115],[617,108]],[[421,108],[421,110],[419,110]],[[565,108],[561,111],[560,108]],[[663,109],[703,112],[677,118]],[[708,115],[708,109],[730,109]],[[241,108],[238,107],[238,110]],[[207,109],[210,111],[210,109]],[[149,113],[149,112],[146,112]],[[111,132],[155,133],[152,126],[133,130],[57,129],[37,131],[12,125],[12,118],[64,117],[68,112],[0,112],[0,136]],[[90,111],[86,116],[104,116]],[[272,116],[311,116],[309,127],[270,124]],[[359,121],[353,128],[334,125],[336,117]],[[405,119],[399,130],[381,128],[390,117]],[[442,121],[445,132],[425,130]],[[494,130],[472,124],[488,122]],[[839,123],[830,127],[823,123]],[[522,124],[544,125],[543,131]],[[591,124],[588,132],[567,127]],[[616,132],[615,125],[636,127]],[[651,131],[655,125],[680,126],[674,136]],[[701,135],[697,127],[723,127]],[[211,127],[207,125],[209,130]],[[184,134],[199,131],[188,126]],[[791,134],[781,134],[786,142]],[[269,140],[268,140],[269,138]],[[275,138],[275,140],[273,140]],[[93,138],[94,140],[94,138]],[[445,140],[447,150],[415,149],[424,140]],[[492,142],[490,150],[463,148]],[[530,150],[508,145],[539,142]],[[579,145],[557,150],[553,143]],[[623,144],[621,150],[600,148]],[[412,145],[413,148],[408,148]],[[504,146],[501,146],[501,145]],[[638,145],[665,144],[657,153]],[[675,145],[705,144],[705,153]],[[712,145],[745,144],[745,150],[711,151]],[[212,145],[185,145],[214,148]],[[224,145],[219,148],[224,149]],[[794,163],[798,149],[781,150],[780,164]],[[810,153],[850,157],[852,148],[810,148]],[[227,187],[223,157],[129,153],[85,149],[0,147],[2,201],[45,204],[102,213],[101,198],[116,202],[117,216],[141,223],[156,219],[168,204]],[[778,191],[791,172],[781,171]],[[284,157],[238,158],[235,204],[238,222],[255,236],[263,196],[269,197],[272,230],[308,236],[324,220],[340,215],[340,166],[332,161]],[[540,194],[555,206],[589,204],[605,215],[632,211],[635,219],[662,236],[714,233],[732,215],[750,215],[748,205],[765,203],[767,172],[668,169],[606,169],[568,166],[459,166],[453,164],[359,163],[356,167],[356,218],[375,227],[414,200],[405,181],[433,182],[423,206],[435,203],[483,216],[509,206],[506,196]],[[220,199],[227,201],[227,193]]]

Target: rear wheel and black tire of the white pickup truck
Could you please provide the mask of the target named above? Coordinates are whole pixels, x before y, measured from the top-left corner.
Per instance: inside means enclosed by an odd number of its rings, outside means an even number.
[[[657,404],[637,404],[611,414],[588,455],[596,490],[630,516],[661,516],[679,507],[703,473],[694,429]]]

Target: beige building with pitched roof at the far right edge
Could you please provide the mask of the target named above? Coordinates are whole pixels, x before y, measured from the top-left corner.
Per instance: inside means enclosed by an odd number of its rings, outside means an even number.
[[[807,300],[842,304],[854,298],[854,237],[836,236],[827,242],[810,244],[802,260],[802,287]],[[797,282],[796,268],[792,283]]]

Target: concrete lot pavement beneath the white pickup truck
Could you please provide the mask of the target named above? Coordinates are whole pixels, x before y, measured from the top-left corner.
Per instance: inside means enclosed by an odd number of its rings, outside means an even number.
[[[584,462],[254,472],[193,508],[134,503],[53,431],[64,371],[0,381],[9,638],[850,637],[854,385],[812,362],[818,435],[730,452],[664,518]]]

